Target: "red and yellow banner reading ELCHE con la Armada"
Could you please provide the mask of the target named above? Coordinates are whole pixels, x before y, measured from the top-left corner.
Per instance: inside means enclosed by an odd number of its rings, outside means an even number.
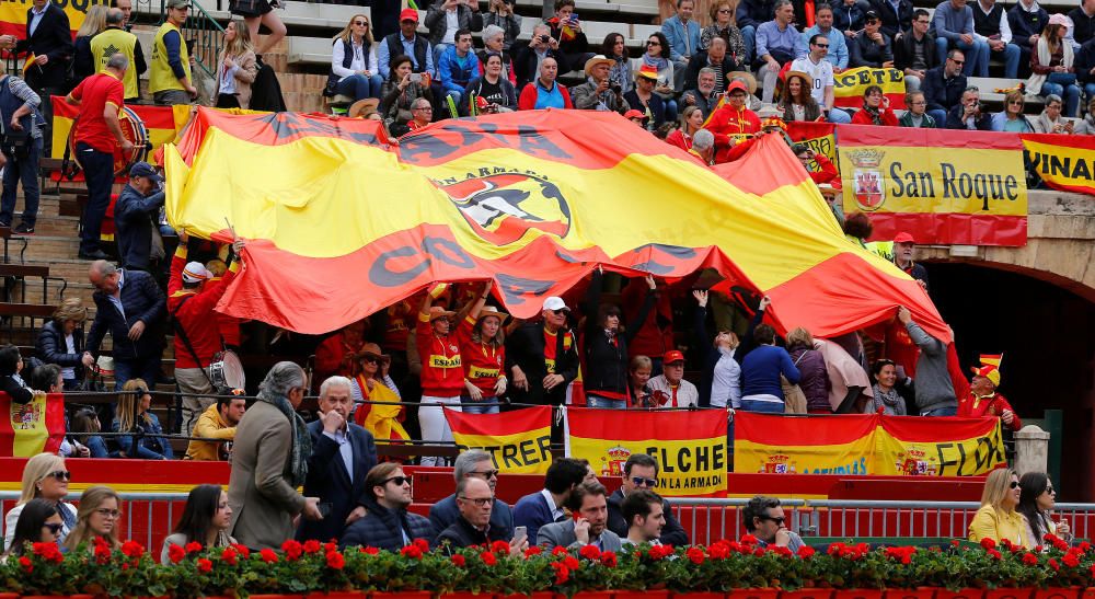
[[[638,412],[570,407],[566,454],[589,460],[603,476],[623,475],[632,453],[658,460],[658,488],[668,497],[726,495],[726,413]]]

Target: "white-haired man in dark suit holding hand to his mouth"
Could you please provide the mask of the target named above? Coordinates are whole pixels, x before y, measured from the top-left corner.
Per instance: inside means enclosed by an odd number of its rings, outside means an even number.
[[[301,521],[300,541],[341,539],[347,526],[365,516],[365,475],[377,465],[377,445],[371,433],[349,422],[353,384],[346,377],[331,377],[320,385],[320,419],[308,425],[312,454],[304,496],[320,498],[323,519]]]

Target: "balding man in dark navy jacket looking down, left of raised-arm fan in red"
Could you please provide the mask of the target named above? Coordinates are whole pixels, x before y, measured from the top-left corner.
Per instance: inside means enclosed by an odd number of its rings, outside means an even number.
[[[95,320],[88,333],[88,352],[99,357],[107,333],[114,339],[114,382],[118,390],[129,379],[155,387],[163,354],[160,324],[168,300],[148,273],[124,270],[105,260],[91,263],[88,279],[95,288]]]

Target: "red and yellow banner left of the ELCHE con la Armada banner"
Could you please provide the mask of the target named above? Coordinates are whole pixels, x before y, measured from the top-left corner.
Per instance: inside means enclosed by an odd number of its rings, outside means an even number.
[[[461,451],[489,452],[499,472],[544,474],[551,465],[551,406],[499,414],[465,414],[446,407],[445,418]]]

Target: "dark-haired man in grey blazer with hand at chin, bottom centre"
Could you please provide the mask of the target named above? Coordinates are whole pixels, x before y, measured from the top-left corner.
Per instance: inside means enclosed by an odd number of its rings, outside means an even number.
[[[606,495],[608,491],[600,483],[581,483],[574,487],[566,502],[574,518],[540,527],[537,544],[546,550],[593,545],[601,551],[619,553],[622,549],[620,537],[608,529]]]

